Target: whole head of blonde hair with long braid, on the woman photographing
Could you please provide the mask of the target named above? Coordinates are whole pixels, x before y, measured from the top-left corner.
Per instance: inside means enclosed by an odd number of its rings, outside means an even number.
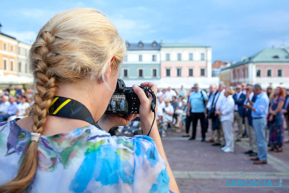
[[[78,8],[55,15],[40,30],[30,49],[30,69],[37,93],[30,115],[33,131],[41,133],[48,106],[60,82],[90,78],[106,82],[105,71],[114,56],[113,67],[123,60],[125,41],[101,12]],[[0,186],[0,192],[24,192],[37,169],[37,142],[31,141],[17,176]]]

